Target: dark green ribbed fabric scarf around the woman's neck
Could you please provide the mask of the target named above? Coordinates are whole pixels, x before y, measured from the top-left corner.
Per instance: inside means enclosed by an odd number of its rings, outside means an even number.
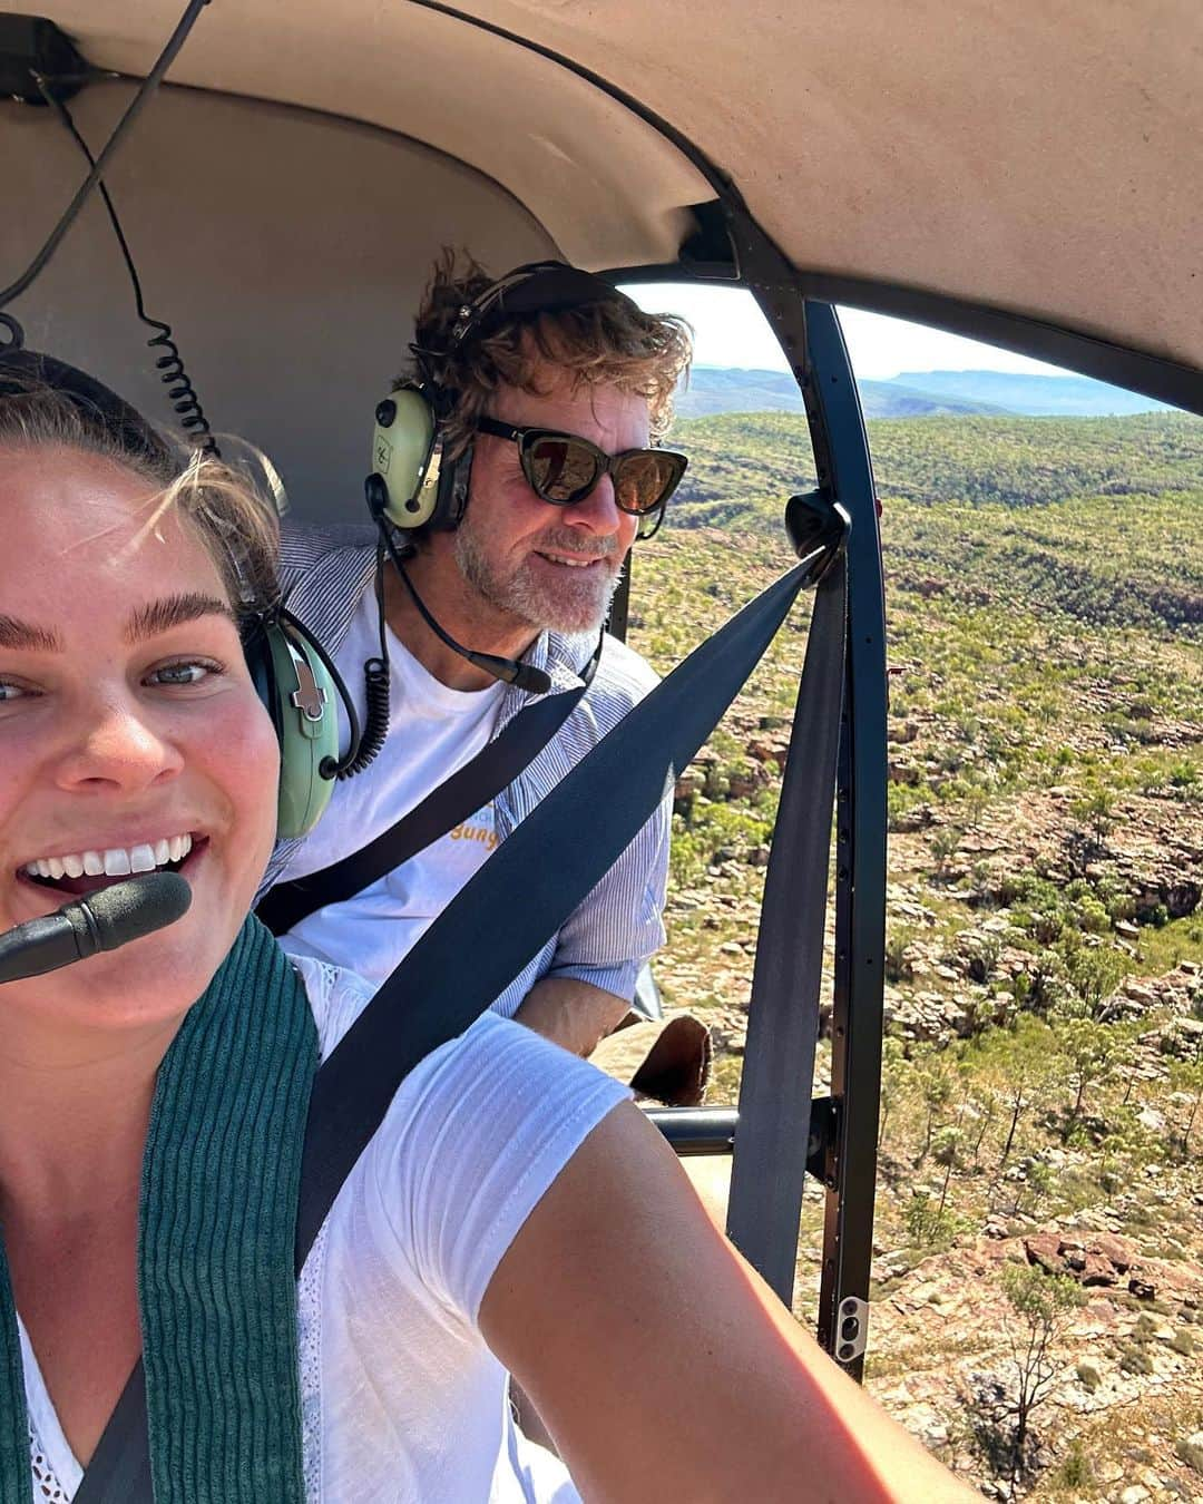
[[[138,1301],[164,1504],[304,1504],[293,1239],[317,1069],[305,990],[248,919],[155,1084]],[[0,1245],[0,1504],[32,1504],[26,1390]]]

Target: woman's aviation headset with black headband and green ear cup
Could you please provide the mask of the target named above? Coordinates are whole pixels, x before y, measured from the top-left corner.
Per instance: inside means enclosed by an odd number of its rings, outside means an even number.
[[[3,316],[0,316],[3,317]],[[12,323],[5,319],[12,329]],[[14,331],[15,334],[17,331]],[[0,347],[0,399],[27,396],[48,387],[80,412],[99,415],[123,451],[147,460],[155,469],[170,465],[170,450],[155,429],[108,387],[84,371],[17,344]],[[242,608],[242,645],[259,698],[280,740],[280,796],[277,835],[301,836],[317,823],[329,803],[334,779],[358,747],[353,707],[346,699],[329,659],[299,621],[278,603],[254,602],[245,559],[236,538],[227,538],[235,573],[247,582]],[[352,752],[338,760],[338,711],[343,693],[352,726]]]

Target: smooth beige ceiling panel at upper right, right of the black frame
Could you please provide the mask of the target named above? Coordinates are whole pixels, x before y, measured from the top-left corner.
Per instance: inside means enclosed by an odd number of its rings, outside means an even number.
[[[1203,367],[1198,0],[465,9],[651,104],[798,266]]]

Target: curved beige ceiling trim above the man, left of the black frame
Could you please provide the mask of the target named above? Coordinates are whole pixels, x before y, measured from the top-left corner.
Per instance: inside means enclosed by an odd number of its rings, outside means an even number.
[[[141,74],[182,0],[18,0],[17,9],[51,14],[98,66]],[[674,147],[591,84],[406,0],[220,0],[202,12],[168,78],[435,144],[504,183],[541,221],[538,205],[555,203],[552,233],[580,265],[672,260],[683,208],[711,197]]]

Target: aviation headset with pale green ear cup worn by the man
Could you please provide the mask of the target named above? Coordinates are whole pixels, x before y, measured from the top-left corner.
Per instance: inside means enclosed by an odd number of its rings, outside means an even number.
[[[371,474],[365,483],[376,522],[383,526],[386,519],[411,537],[420,528],[453,531],[468,507],[472,445],[454,460],[444,454],[447,423],[459,393],[435,378],[432,353],[435,361],[447,361],[516,314],[564,313],[605,302],[639,311],[626,293],[592,272],[565,262],[528,262],[463,304],[445,349],[429,352],[411,346],[423,374],[397,382],[376,405]]]

